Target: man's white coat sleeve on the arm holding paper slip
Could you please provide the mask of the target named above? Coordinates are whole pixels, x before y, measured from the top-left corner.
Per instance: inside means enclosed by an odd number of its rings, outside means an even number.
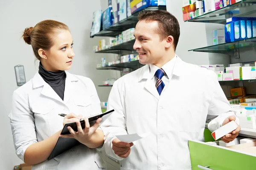
[[[126,118],[125,118],[125,101],[124,101],[124,85],[118,84],[116,81],[113,84],[109,98],[108,110],[114,109],[115,111],[111,116],[102,124],[101,128],[105,135],[105,152],[108,156],[120,161],[123,158],[117,156],[112,150],[112,141],[116,138],[115,135],[126,135]]]

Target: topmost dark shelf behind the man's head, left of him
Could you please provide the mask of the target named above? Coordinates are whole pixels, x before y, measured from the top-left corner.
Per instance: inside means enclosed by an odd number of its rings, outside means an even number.
[[[166,6],[149,6],[148,8],[145,8],[141,11],[147,11],[147,10],[166,10]],[[109,26],[107,29],[100,31],[99,33],[91,36],[91,37],[116,37],[116,35],[121,34],[123,31],[135,28],[137,22],[138,22],[138,15],[141,12],[136,12],[132,14],[131,16],[125,18],[124,20],[121,20],[118,23],[113,24],[112,26]]]

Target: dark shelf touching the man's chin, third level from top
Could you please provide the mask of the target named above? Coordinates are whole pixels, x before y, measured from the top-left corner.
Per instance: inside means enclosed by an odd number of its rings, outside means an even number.
[[[136,70],[136,69],[139,69],[141,66],[144,66],[144,65],[141,64],[139,62],[139,60],[135,60],[135,61],[129,61],[129,62],[125,62],[125,63],[113,64],[111,66],[98,67],[96,69],[111,69],[111,70],[121,71],[124,68]]]

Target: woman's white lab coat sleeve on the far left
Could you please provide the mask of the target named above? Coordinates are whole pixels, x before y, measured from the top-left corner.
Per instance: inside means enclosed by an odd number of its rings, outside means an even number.
[[[29,109],[28,98],[16,91],[12,96],[12,111],[9,114],[12,136],[17,156],[24,161],[26,149],[37,141],[33,112]]]

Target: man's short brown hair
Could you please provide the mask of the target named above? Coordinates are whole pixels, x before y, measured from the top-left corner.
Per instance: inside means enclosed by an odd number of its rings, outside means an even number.
[[[138,19],[146,20],[147,22],[157,21],[159,26],[157,32],[160,34],[161,40],[172,35],[174,38],[174,50],[176,50],[180,37],[180,25],[175,16],[164,10],[148,10],[140,12]]]

